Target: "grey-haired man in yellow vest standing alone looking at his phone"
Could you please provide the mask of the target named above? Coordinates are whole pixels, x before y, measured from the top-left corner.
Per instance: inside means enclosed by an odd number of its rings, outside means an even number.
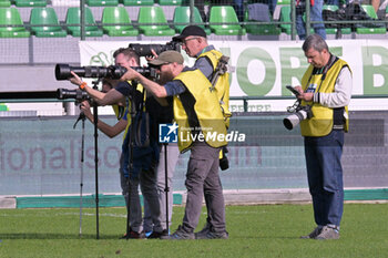
[[[303,51],[310,64],[302,79],[297,97],[312,106],[313,116],[300,122],[309,192],[317,227],[302,238],[338,239],[344,210],[344,183],[340,157],[344,132],[348,131],[351,71],[329,52],[318,34],[307,37]]]

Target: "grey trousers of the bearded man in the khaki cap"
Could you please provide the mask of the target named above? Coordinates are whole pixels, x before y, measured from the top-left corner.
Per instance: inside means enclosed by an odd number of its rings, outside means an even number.
[[[187,233],[194,233],[198,224],[204,196],[213,230],[216,233],[226,230],[218,155],[219,148],[211,147],[202,142],[195,142],[191,148],[185,182],[187,199],[182,225]]]

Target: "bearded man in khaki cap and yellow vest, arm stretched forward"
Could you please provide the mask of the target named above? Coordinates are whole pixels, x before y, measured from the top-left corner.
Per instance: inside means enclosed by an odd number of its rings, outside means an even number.
[[[127,68],[121,80],[136,80],[159,99],[174,96],[178,147],[181,153],[191,151],[185,180],[187,200],[183,225],[170,239],[195,238],[194,230],[201,216],[204,195],[208,200],[208,216],[213,218],[213,227],[206,238],[226,239],[228,234],[225,228],[225,204],[218,174],[218,154],[226,141],[206,137],[212,133],[226,135],[218,96],[200,70],[184,68],[183,56],[176,51],[165,51],[150,64],[159,66],[163,86],[131,68]]]

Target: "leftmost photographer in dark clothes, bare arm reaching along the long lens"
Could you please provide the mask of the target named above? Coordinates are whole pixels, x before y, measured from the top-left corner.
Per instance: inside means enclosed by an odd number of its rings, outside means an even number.
[[[119,49],[114,52],[113,56],[115,58],[115,64],[121,66],[139,66],[139,55],[130,50],[130,49]],[[145,207],[145,217],[151,216],[152,218],[152,227],[149,230],[153,230],[153,234],[150,236],[151,238],[160,237],[161,235],[165,235],[166,233],[163,230],[160,220],[161,206],[159,204],[159,195],[156,190],[156,165],[159,162],[159,146],[157,146],[157,134],[155,133],[155,124],[144,124],[140,117],[147,117],[147,114],[144,112],[144,92],[141,89],[141,85],[137,85],[134,82],[121,82],[115,89],[109,91],[108,93],[102,93],[96,90],[93,90],[86,85],[86,83],[82,82],[82,80],[72,72],[74,78],[70,79],[70,81],[80,86],[81,90],[84,90],[90,94],[93,100],[95,100],[101,105],[114,104],[116,102],[122,102],[125,97],[129,97],[129,106],[126,107],[125,117],[127,117],[126,133],[124,136],[123,143],[123,153],[121,156],[121,185],[123,189],[123,195],[130,195],[130,215],[131,215],[131,229],[130,235],[126,238],[142,238],[144,237],[142,234],[142,209],[139,198],[139,184],[142,189],[142,194],[144,196],[145,203],[147,204]],[[150,97],[146,100],[149,103]],[[132,104],[130,104],[132,103]],[[150,105],[145,104],[145,109]],[[159,107],[154,107],[159,112]],[[135,113],[134,121],[131,121],[130,114]],[[152,116],[152,115],[150,115]],[[159,114],[153,115],[151,121],[156,121]],[[135,123],[137,122],[137,124]],[[131,127],[130,127],[131,125]],[[135,145],[133,147],[133,154],[131,154],[131,148],[129,147],[129,138],[130,134],[135,134],[137,132],[137,125],[140,138],[143,140],[144,135],[146,136],[147,132],[151,132],[149,144]],[[147,125],[150,126],[147,128]],[[157,126],[157,125],[156,125]],[[130,156],[133,156],[133,161],[131,164]],[[176,157],[177,159],[177,157]],[[133,166],[131,166],[133,165]],[[133,167],[132,171],[129,171],[129,167]],[[129,194],[127,182],[131,185],[131,193]],[[127,198],[126,198],[127,202]],[[146,215],[150,214],[150,215]]]

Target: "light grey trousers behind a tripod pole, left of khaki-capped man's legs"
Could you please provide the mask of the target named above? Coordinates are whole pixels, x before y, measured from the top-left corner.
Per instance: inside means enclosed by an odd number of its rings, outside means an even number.
[[[166,202],[165,202],[165,152],[164,146],[161,147],[157,172],[156,172],[156,189],[159,196],[159,205],[160,205],[160,217],[162,228],[166,229]],[[177,144],[170,143],[167,145],[167,184],[169,184],[169,226],[171,226],[171,217],[173,214],[173,176],[175,172],[176,163],[180,158],[180,149]],[[144,202],[144,230],[152,231],[152,219],[150,214],[149,204]]]

